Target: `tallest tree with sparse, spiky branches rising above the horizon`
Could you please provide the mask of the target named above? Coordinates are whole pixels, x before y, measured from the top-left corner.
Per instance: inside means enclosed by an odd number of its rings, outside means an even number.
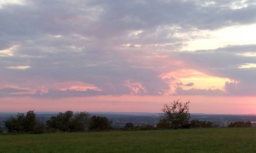
[[[164,119],[170,124],[171,129],[186,128],[189,125],[189,103],[182,103],[180,99],[174,100],[170,105],[162,108]]]

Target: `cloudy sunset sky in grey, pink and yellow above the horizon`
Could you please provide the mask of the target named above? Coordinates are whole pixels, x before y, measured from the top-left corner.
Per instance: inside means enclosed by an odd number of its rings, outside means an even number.
[[[256,114],[256,1],[0,0],[0,111]]]

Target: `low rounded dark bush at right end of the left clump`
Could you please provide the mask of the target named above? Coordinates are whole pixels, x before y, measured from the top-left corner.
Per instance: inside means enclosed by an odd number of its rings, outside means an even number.
[[[111,129],[112,120],[109,120],[105,116],[92,116],[90,120],[90,130],[104,131]]]

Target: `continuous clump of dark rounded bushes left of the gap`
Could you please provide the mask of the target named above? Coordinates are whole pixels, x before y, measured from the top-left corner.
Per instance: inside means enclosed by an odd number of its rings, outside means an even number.
[[[18,113],[16,118],[11,117],[4,121],[8,133],[45,133],[45,132],[84,132],[104,131],[111,129],[112,120],[105,116],[90,116],[88,112],[72,111],[58,113],[45,123],[36,119],[34,111],[27,114]]]

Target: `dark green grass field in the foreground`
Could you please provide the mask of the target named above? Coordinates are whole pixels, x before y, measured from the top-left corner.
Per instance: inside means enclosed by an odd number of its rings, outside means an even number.
[[[0,135],[0,152],[256,152],[256,128]]]

